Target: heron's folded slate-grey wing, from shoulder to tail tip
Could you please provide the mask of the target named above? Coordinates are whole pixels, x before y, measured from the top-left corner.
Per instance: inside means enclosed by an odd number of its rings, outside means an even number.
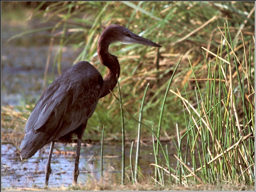
[[[21,158],[29,158],[45,144],[74,131],[92,115],[103,79],[82,61],[58,77],[43,93],[25,127]]]

